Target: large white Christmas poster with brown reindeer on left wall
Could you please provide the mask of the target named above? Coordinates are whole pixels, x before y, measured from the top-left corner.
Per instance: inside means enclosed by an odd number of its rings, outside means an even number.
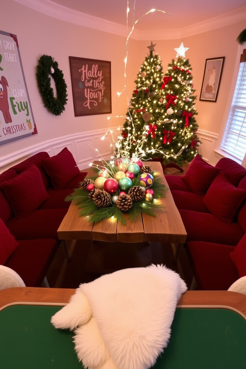
[[[0,145],[36,133],[17,36],[0,31]]]

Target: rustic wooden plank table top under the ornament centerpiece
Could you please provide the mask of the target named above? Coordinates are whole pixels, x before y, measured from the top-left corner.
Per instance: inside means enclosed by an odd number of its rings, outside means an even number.
[[[100,162],[95,162],[100,163]],[[146,162],[152,170],[162,177],[163,184],[168,188],[168,184],[163,174],[162,166],[159,162]],[[87,177],[93,176],[94,170],[91,168]],[[156,217],[142,214],[136,222],[127,222],[122,225],[116,219],[109,218],[100,223],[89,223],[86,217],[79,217],[78,208],[71,204],[60,227],[58,228],[59,239],[68,241],[75,239],[88,239],[106,242],[168,242],[173,244],[183,244],[186,241],[186,230],[184,228],[179,211],[174,204],[171,192],[166,192],[166,197],[158,200],[166,210],[157,212]],[[127,218],[127,214],[124,214]]]

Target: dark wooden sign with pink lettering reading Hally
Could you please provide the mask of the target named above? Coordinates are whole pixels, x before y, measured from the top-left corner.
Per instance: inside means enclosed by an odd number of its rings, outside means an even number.
[[[111,113],[111,62],[69,56],[75,117]]]

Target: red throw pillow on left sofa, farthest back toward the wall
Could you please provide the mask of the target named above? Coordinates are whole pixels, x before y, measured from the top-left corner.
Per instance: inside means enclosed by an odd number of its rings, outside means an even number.
[[[80,174],[72,153],[66,147],[55,156],[42,159],[42,164],[51,177],[51,184],[56,190],[61,190]]]

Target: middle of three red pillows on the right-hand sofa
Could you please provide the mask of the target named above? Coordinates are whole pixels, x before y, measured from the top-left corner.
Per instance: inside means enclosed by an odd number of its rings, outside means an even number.
[[[205,194],[203,202],[215,217],[225,223],[232,223],[245,198],[246,190],[233,186],[223,173],[219,173]]]

